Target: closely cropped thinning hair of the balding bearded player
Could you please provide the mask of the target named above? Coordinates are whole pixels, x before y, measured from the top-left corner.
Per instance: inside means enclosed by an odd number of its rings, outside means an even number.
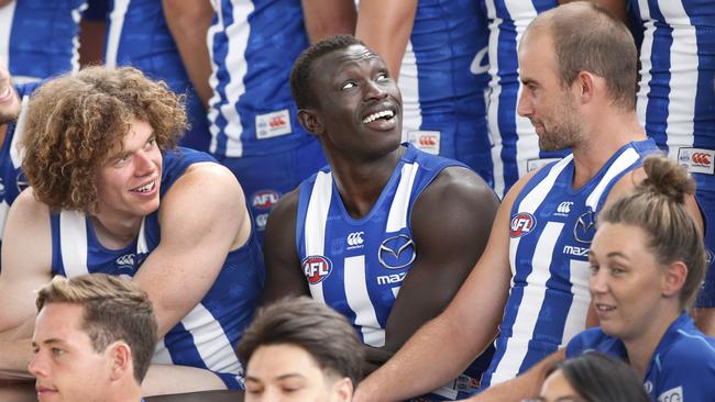
[[[623,22],[597,4],[576,1],[539,14],[527,32],[541,27],[551,34],[562,86],[590,71],[606,81],[613,104],[635,110],[638,51]]]

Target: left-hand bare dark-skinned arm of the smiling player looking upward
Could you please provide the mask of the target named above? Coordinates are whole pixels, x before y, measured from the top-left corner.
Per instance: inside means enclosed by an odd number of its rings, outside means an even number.
[[[265,230],[264,260],[266,281],[261,304],[288,294],[310,295],[296,250],[298,190],[286,194],[271,211]]]

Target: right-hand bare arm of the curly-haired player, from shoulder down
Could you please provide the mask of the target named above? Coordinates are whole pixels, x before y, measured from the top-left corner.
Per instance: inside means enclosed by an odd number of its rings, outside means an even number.
[[[249,239],[244,205],[235,177],[218,164],[193,165],[162,200],[162,241],[134,277],[152,300],[160,337],[201,301],[229,250]]]

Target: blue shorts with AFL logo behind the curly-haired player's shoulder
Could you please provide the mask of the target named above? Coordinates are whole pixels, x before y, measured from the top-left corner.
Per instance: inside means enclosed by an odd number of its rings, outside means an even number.
[[[312,137],[285,153],[217,159],[241,182],[261,247],[268,212],[280,197],[328,164],[320,143]]]

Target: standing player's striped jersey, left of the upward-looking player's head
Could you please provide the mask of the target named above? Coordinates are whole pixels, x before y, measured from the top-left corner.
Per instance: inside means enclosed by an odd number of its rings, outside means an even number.
[[[293,63],[309,45],[300,0],[211,4],[211,154],[278,154],[316,141],[296,119],[289,86]]]

